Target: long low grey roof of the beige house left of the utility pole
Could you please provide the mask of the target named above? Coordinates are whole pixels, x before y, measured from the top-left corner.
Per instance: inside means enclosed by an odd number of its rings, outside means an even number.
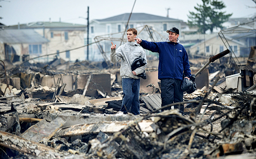
[[[33,22],[28,24],[18,24],[12,26],[6,26],[5,29],[26,29],[26,28],[72,28],[72,29],[84,29],[86,25],[81,24],[72,24],[72,23],[63,23],[63,22]]]

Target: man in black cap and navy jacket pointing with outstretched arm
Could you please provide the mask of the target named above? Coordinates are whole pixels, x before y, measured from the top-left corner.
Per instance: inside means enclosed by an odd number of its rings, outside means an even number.
[[[158,78],[161,80],[162,106],[182,102],[183,91],[181,90],[181,83],[183,73],[185,78],[190,79],[191,77],[188,53],[186,53],[183,45],[179,44],[179,29],[172,27],[166,32],[169,33],[169,38],[166,39],[166,42],[147,42],[135,38],[143,48],[159,53]],[[183,114],[183,105],[180,107],[175,105],[174,108],[179,108],[180,113]]]

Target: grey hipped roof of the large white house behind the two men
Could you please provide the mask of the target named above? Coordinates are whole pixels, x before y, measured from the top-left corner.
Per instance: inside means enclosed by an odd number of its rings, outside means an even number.
[[[120,15],[116,15],[113,17],[105,18],[105,19],[95,19],[95,21],[101,22],[101,23],[107,23],[107,22],[127,22],[129,19],[130,13],[124,13]],[[169,17],[163,17],[163,16],[157,16],[152,14],[146,14],[146,13],[132,13],[130,22],[145,22],[145,21],[151,21],[151,22],[182,22],[180,19],[173,19]]]

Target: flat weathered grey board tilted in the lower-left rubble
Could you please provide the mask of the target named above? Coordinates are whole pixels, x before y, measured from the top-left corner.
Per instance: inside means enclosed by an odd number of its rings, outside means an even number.
[[[64,124],[65,121],[60,117],[50,123],[44,119],[29,127],[21,136],[38,143],[47,142]]]

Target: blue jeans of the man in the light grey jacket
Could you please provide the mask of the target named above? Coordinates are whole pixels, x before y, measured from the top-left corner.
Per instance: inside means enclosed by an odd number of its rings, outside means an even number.
[[[123,102],[121,110],[124,114],[130,111],[134,115],[140,114],[140,79],[122,78]]]

